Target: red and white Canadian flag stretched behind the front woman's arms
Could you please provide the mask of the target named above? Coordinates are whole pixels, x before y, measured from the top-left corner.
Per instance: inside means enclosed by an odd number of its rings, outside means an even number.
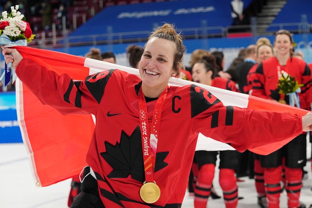
[[[99,60],[25,46],[16,46],[15,48],[23,57],[31,58],[58,74],[67,73],[74,80],[83,80],[88,75],[109,69],[120,69],[139,76],[137,69]],[[184,86],[190,84],[207,89],[224,105],[299,115],[305,115],[308,112],[277,102],[186,80],[177,78],[169,80],[169,85]],[[64,116],[52,107],[43,105],[18,79],[16,80],[16,90],[17,118],[37,186],[49,186],[78,175],[86,166],[85,156],[95,127],[95,120],[92,115],[72,114]],[[251,151],[268,154],[282,147],[291,139],[287,138],[283,142],[262,146]],[[227,149],[232,149],[232,147],[199,135],[196,150]]]

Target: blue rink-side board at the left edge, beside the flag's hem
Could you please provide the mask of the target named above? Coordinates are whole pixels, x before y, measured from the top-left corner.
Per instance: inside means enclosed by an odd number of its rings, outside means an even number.
[[[0,93],[0,143],[23,142],[17,122],[15,92]]]

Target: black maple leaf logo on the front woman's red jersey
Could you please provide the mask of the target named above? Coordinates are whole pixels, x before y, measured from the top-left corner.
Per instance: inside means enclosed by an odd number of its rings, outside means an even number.
[[[100,155],[113,168],[108,178],[127,178],[131,175],[134,180],[145,181],[139,126],[134,129],[130,136],[121,131],[120,143],[112,145],[105,142],[105,148],[106,152],[101,152]],[[163,162],[168,154],[169,152],[158,152],[156,154],[155,172],[168,166],[168,163]]]

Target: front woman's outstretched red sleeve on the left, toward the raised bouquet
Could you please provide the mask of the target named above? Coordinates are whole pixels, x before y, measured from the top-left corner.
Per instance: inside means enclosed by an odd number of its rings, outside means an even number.
[[[43,103],[62,114],[95,114],[113,70],[73,80],[68,74],[58,75],[37,62],[23,58],[16,74],[24,85]]]

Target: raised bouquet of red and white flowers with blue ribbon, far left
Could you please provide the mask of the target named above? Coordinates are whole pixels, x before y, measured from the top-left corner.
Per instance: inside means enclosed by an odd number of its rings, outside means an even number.
[[[0,16],[0,45],[5,47],[11,46],[27,46],[36,35],[32,34],[32,29],[26,18],[21,12],[18,12],[18,5],[11,7],[11,13],[7,11],[2,12]],[[4,73],[0,80],[4,85],[7,85],[13,75],[13,81],[16,79],[15,72],[10,70],[12,63],[6,65]]]

